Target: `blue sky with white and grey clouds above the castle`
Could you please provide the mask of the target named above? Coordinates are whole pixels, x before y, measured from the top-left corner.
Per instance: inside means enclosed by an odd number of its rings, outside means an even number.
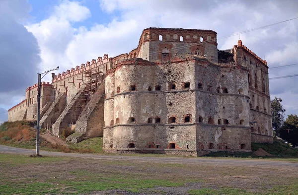
[[[0,122],[37,72],[128,53],[145,28],[211,29],[221,38],[298,17],[297,10],[298,0],[0,0]],[[219,39],[218,48],[238,39]],[[269,67],[298,63],[298,19],[240,39]],[[298,65],[269,69],[269,77],[291,74]],[[281,97],[287,114],[298,114],[297,83],[298,77],[270,81],[271,98]]]

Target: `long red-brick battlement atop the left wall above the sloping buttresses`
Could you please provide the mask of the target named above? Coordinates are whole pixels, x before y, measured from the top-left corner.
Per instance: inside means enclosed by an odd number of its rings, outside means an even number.
[[[97,60],[92,59],[91,62],[88,61],[88,62],[86,62],[86,64],[81,64],[80,66],[77,65],[75,68],[72,68],[71,70],[67,70],[66,72],[63,71],[62,73],[59,73],[58,75],[53,75],[52,83],[57,82],[62,79],[65,79],[67,77],[82,73],[86,70],[97,67],[99,65],[103,65],[110,61],[111,61],[111,58],[109,58],[109,55],[105,54],[103,57],[98,57]]]

